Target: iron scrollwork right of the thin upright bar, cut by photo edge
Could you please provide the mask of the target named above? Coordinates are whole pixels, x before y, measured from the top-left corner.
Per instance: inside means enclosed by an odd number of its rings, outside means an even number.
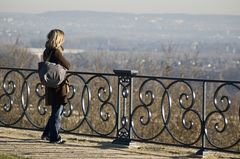
[[[232,82],[220,83],[214,91],[212,111],[206,116],[205,134],[209,145],[216,149],[239,146],[239,92],[239,83]]]

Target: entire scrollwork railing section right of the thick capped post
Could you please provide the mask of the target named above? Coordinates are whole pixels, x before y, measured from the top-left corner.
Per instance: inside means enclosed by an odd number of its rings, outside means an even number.
[[[140,104],[131,114],[135,139],[239,152],[240,82],[152,76],[139,79],[139,87],[134,88],[138,99],[134,101]]]

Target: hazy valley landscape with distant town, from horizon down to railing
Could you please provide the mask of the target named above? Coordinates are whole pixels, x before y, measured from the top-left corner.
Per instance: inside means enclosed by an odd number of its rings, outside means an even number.
[[[66,34],[65,53],[74,70],[96,64],[140,69],[142,74],[239,80],[240,16],[126,14],[84,11],[0,13],[0,44],[27,48],[40,59],[46,34]],[[141,64],[141,67],[140,67]],[[34,66],[35,67],[35,66]],[[104,67],[104,68],[105,68]],[[106,71],[100,67],[98,71]],[[156,69],[154,71],[149,71]]]

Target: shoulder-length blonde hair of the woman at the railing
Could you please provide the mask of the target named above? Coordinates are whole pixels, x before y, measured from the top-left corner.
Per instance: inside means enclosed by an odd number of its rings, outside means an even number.
[[[64,32],[59,29],[51,30],[47,35],[46,47],[48,48],[60,48],[64,42]]]

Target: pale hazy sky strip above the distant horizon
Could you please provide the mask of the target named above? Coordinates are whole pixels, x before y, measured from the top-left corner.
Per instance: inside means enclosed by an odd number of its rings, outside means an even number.
[[[1,12],[56,10],[240,15],[240,0],[0,0]]]

